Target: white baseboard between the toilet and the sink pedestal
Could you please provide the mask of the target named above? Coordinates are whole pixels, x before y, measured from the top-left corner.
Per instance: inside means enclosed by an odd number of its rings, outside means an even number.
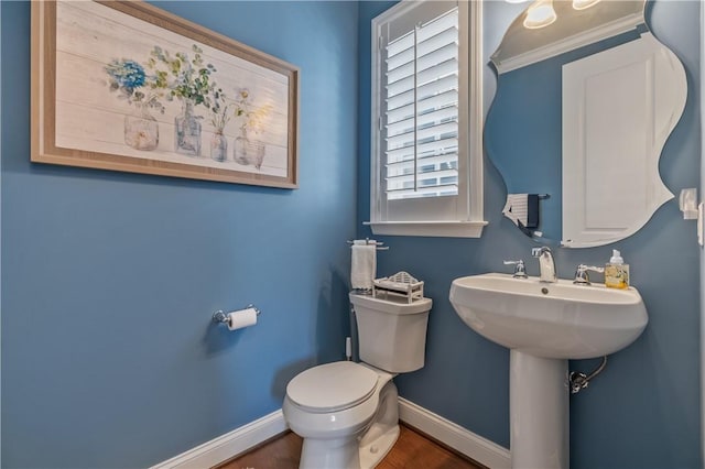
[[[507,448],[403,397],[399,397],[399,419],[490,469],[511,468]]]

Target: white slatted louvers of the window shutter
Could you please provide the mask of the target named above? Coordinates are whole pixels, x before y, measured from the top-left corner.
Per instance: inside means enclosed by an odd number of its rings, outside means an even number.
[[[458,194],[458,10],[386,46],[387,198]]]

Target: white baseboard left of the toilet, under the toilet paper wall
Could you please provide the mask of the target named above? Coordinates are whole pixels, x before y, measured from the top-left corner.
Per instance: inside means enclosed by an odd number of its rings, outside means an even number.
[[[150,469],[212,468],[262,441],[267,441],[288,428],[284,415],[279,410],[164,462],[152,466]]]

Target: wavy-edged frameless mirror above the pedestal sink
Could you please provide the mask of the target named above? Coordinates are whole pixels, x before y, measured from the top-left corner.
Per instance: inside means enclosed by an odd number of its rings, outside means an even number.
[[[685,106],[685,72],[650,33],[643,0],[536,0],[491,61],[485,145],[507,184],[503,212],[528,236],[607,244],[673,197],[659,157]]]

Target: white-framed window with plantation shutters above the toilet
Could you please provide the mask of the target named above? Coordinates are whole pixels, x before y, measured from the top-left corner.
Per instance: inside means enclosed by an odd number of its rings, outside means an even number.
[[[371,221],[479,237],[481,2],[402,1],[372,20]]]

